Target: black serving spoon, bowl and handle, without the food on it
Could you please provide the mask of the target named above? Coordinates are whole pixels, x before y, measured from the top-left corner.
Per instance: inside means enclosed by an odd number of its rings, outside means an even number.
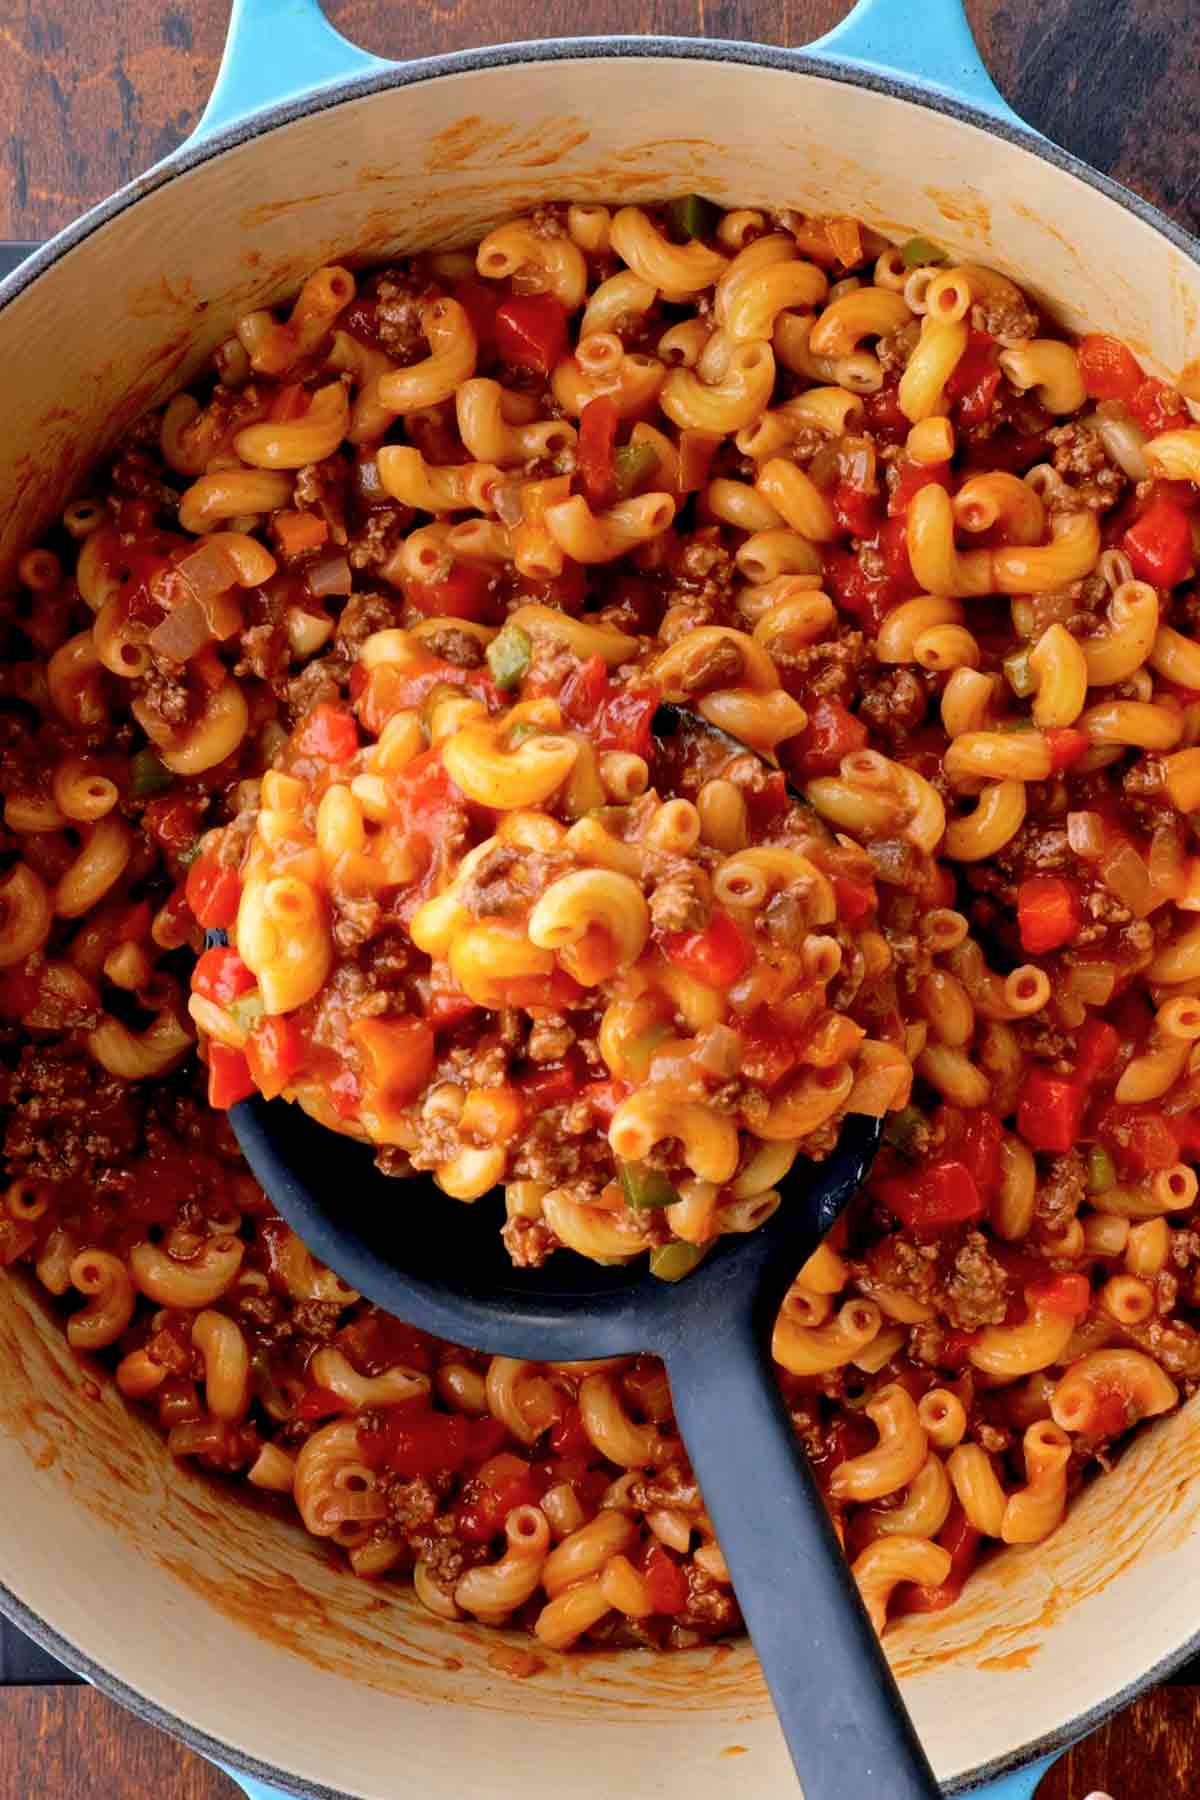
[[[682,716],[662,707],[655,733]],[[685,716],[687,731],[705,731]],[[730,752],[745,745],[720,734]],[[846,1566],[775,1384],[770,1334],[811,1251],[860,1190],[878,1120],[849,1116],[824,1163],[797,1163],[783,1204],[721,1238],[685,1280],[556,1251],[513,1269],[504,1206],[394,1181],[374,1152],[282,1100],[230,1121],[250,1168],[308,1247],[376,1305],[437,1337],[540,1363],[649,1352],[734,1579],[806,1800],[941,1793]]]

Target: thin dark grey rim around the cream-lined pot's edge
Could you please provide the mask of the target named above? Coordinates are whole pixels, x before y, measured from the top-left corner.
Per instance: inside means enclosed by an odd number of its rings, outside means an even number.
[[[390,68],[324,83],[293,99],[263,106],[257,112],[248,113],[245,119],[239,119],[230,126],[223,126],[210,135],[203,133],[200,137],[193,137],[144,175],[135,176],[124,187],[117,189],[117,193],[110,194],[108,200],[90,207],[79,220],[67,225],[41,248],[32,252],[29,259],[22,263],[5,281],[0,281],[0,311],[23,293],[25,288],[38,281],[40,275],[54,268],[63,256],[81,245],[95,230],[119,218],[126,209],[137,205],[139,200],[144,200],[148,194],[164,187],[176,176],[191,173],[191,169],[200,167],[203,162],[223,155],[227,149],[236,149],[254,139],[266,137],[272,131],[293,124],[297,119],[306,119],[313,113],[327,112],[333,106],[367,99],[372,94],[383,94],[392,88],[407,88],[423,81],[437,81],[443,76],[473,74],[486,68],[509,68],[524,63],[604,59],[705,61],[750,68],[772,68],[783,74],[801,74],[813,76],[822,81],[838,81],[846,86],[867,88],[873,94],[909,101],[914,106],[943,113],[961,124],[977,126],[979,130],[1027,151],[1051,167],[1076,176],[1088,187],[1101,193],[1106,200],[1112,200],[1124,212],[1133,214],[1133,218],[1137,218],[1142,225],[1150,225],[1151,230],[1166,238],[1168,243],[1187,257],[1187,261],[1200,268],[1200,239],[1193,238],[1182,225],[1177,225],[1175,220],[1168,218],[1150,200],[1144,200],[1141,194],[1124,187],[1121,182],[1115,182],[1112,176],[1103,175],[1099,169],[1094,169],[1072,151],[1063,149],[1061,146],[1042,137],[1042,133],[1034,131],[1033,126],[1022,124],[1018,119],[1009,121],[997,117],[993,112],[986,112],[982,106],[975,106],[970,101],[961,101],[952,94],[943,92],[939,86],[923,83],[918,77],[885,74],[882,70],[876,72],[844,58],[826,56],[824,52],[813,54],[806,49],[763,45],[734,38],[606,34],[590,38],[520,40],[513,43],[452,50],[443,56],[414,58],[410,61],[394,63]],[[209,1757],[209,1760],[227,1764],[230,1773],[232,1769],[237,1769],[257,1782],[279,1789],[281,1800],[284,1791],[286,1795],[304,1796],[304,1800],[353,1800],[353,1796],[342,1789],[306,1782],[290,1775],[286,1769],[259,1762],[246,1751],[221,1742],[200,1726],[187,1724],[166,1706],[160,1706],[137,1688],[128,1687],[119,1676],[101,1669],[95,1661],[92,1661],[86,1651],[77,1649],[43,1618],[32,1613],[4,1582],[0,1582],[0,1613],[7,1615],[20,1631],[56,1656],[65,1667],[83,1676],[94,1687],[99,1687],[101,1692],[119,1701],[137,1717],[158,1726],[158,1730],[164,1730],[173,1737],[178,1737],[191,1750]],[[1105,1719],[1132,1705],[1132,1701],[1135,1701],[1141,1694],[1168,1679],[1178,1667],[1182,1667],[1182,1663],[1189,1661],[1196,1654],[1200,1654],[1200,1629],[1182,1645],[1162,1656],[1144,1674],[1126,1681],[1115,1694],[1099,1701],[1085,1714],[1076,1715],[1069,1724],[1045,1732],[1027,1742],[1020,1742],[1004,1755],[993,1757],[990,1762],[964,1771],[955,1777],[945,1791],[948,1795],[970,1793],[1002,1775],[1009,1775],[1015,1769],[1038,1760],[1038,1757],[1061,1753],[1070,1744],[1096,1730],[1096,1726],[1103,1724]]]

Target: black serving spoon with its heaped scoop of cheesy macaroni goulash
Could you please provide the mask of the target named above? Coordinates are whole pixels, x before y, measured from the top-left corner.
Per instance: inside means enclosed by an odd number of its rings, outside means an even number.
[[[765,1354],[819,1377],[880,1328],[871,1301],[813,1328],[811,1291],[784,1296],[909,1096],[876,869],[846,833],[914,796],[871,752],[793,788],[774,747],[804,716],[756,684],[747,634],[637,648],[536,603],[365,639],[354,713],[309,711],[205,846],[212,1098],[354,1289],[511,1359],[596,1361],[585,1422],[630,1469],[667,1444],[604,1359],[662,1355],[810,1800],[928,1796]],[[684,711],[705,659],[723,686]],[[489,1616],[543,1582],[536,1634],[565,1647],[649,1609],[626,1537],[603,1508],[558,1570],[543,1512],[515,1508]]]

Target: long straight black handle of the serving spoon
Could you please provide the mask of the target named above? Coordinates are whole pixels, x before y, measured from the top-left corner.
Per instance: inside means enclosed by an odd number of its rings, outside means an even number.
[[[680,1336],[675,1417],[804,1800],[936,1800],[752,1319],[730,1309]]]

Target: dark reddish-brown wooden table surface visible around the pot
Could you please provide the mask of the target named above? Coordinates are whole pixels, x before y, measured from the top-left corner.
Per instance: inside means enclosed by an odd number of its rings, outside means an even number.
[[[914,29],[923,0],[910,0]],[[381,56],[570,32],[804,43],[847,0],[327,0]],[[968,0],[1018,113],[1200,230],[1198,0]],[[173,149],[216,72],[228,0],[9,0],[0,238],[59,230]],[[0,1800],[230,1800],[232,1784],[0,1625]],[[1072,1751],[1038,1800],[1195,1800],[1200,1663]],[[1153,1771],[1153,1773],[1150,1773]]]

